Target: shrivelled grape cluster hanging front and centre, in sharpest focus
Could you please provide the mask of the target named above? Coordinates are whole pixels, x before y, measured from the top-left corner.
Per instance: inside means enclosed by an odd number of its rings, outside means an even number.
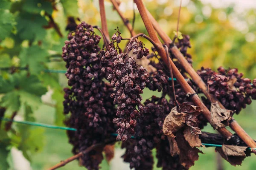
[[[112,51],[111,48],[109,51]],[[109,74],[108,80],[114,87],[111,97],[114,99],[113,103],[117,104],[116,116],[119,117],[113,119],[113,123],[118,127],[116,140],[126,141],[131,134],[134,134],[136,118],[143,111],[140,94],[143,93],[149,74],[145,68],[137,66],[132,56],[128,57],[127,54],[117,54],[117,52],[110,52],[110,55],[114,69],[112,74]]]

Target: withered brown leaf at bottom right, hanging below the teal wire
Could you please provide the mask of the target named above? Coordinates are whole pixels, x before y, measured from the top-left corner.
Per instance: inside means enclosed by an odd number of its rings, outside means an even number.
[[[247,154],[245,151],[247,147],[222,145],[222,147],[216,147],[215,152],[220,153],[221,157],[227,160],[231,165],[241,165]]]

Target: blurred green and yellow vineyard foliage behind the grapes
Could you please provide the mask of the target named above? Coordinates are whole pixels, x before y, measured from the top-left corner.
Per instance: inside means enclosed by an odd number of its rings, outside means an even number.
[[[130,22],[135,9],[135,32],[146,34],[133,1],[120,1],[119,8]],[[192,54],[193,67],[214,70],[219,66],[235,67],[245,77],[255,78],[256,8],[241,9],[237,4],[227,5],[224,1],[218,1],[220,4],[216,7],[212,2],[183,0],[179,28],[180,32],[191,37],[189,53]],[[177,27],[178,4],[179,0],[145,0],[148,10],[171,38]],[[122,37],[130,37],[110,1],[105,1],[105,8],[110,35],[119,27]],[[98,0],[0,0],[0,106],[7,108],[4,117],[10,118],[17,111],[15,120],[63,125],[62,89],[67,86],[67,80],[64,74],[45,73],[44,69],[65,69],[60,57],[68,34],[65,30],[67,17],[70,16],[101,26]],[[144,42],[151,47],[150,43]],[[143,98],[151,95],[144,93]],[[240,115],[235,115],[254,139],[255,104],[254,101]],[[14,123],[6,132],[5,123],[2,121],[0,129],[0,170],[47,169],[72,156],[72,146],[63,130]],[[205,130],[213,131],[211,127]],[[191,169],[215,170],[214,148],[205,148],[203,152],[206,154],[201,155]],[[30,163],[22,159],[22,155]],[[113,161],[111,164],[115,164]],[[247,158],[242,165],[235,168],[224,162],[227,170],[253,170],[256,169],[255,157]],[[102,169],[111,167],[106,161],[102,162]],[[74,161],[60,169],[82,167]]]

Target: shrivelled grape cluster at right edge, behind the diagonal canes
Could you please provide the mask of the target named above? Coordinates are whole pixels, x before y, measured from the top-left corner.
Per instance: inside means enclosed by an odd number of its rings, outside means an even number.
[[[221,104],[229,110],[239,113],[246,105],[250,105],[256,99],[256,79],[254,84],[248,78],[242,78],[243,74],[238,73],[237,68],[218,68],[218,73],[210,68],[201,68],[198,75],[209,86],[209,92],[213,94]],[[210,102],[203,98],[208,108]]]

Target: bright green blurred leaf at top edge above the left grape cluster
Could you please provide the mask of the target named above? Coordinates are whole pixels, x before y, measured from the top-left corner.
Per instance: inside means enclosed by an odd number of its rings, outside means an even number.
[[[61,0],[66,16],[79,17],[77,0]]]

